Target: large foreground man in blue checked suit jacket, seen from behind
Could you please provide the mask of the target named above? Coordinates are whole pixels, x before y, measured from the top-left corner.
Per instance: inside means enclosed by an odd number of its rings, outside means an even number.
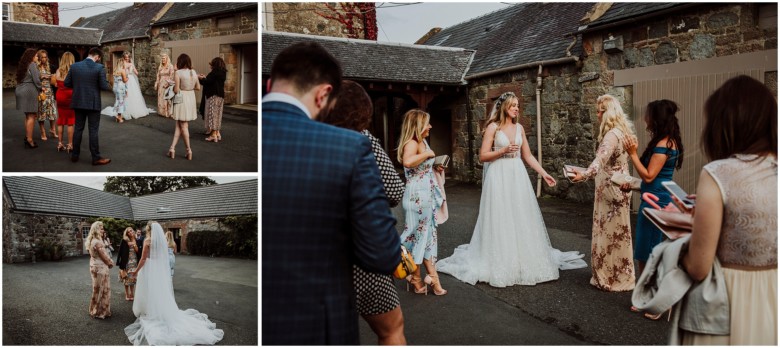
[[[358,344],[352,265],[390,274],[395,218],[371,143],[315,120],[335,103],[341,67],[298,43],[271,66],[262,106],[264,345]]]

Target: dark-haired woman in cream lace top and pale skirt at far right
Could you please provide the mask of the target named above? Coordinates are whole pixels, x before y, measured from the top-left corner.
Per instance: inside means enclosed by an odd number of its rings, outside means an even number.
[[[686,345],[777,346],[777,102],[763,83],[732,78],[704,104],[712,162],[696,187],[682,266],[694,281],[717,257],[729,298],[726,336],[682,331]]]

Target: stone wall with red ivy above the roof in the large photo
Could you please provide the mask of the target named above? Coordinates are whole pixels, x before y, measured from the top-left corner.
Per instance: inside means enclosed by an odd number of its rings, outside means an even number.
[[[330,4],[336,6],[337,9],[339,8],[337,3]],[[325,6],[325,3],[321,2],[273,3],[274,30],[307,35],[349,37],[345,25],[320,16],[317,12],[333,13]],[[355,21],[354,26],[356,32],[360,33],[359,38],[365,38],[363,23]]]

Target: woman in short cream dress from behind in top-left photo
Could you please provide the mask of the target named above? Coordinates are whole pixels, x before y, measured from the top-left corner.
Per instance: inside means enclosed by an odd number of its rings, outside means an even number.
[[[176,59],[176,73],[174,74],[175,85],[173,92],[181,94],[181,103],[173,104],[173,119],[176,120],[176,128],[173,133],[173,142],[168,149],[168,157],[176,157],[176,144],[179,143],[179,137],[184,138],[184,146],[187,147],[185,157],[192,160],[192,149],[190,148],[189,121],[198,118],[198,106],[195,103],[195,91],[200,90],[198,74],[192,70],[192,60],[186,54],[180,54]],[[176,97],[174,97],[176,98]]]

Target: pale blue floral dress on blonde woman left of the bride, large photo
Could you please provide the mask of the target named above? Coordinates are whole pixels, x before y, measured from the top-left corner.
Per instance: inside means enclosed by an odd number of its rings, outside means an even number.
[[[425,142],[426,151],[430,149]],[[414,263],[423,259],[436,263],[438,238],[436,236],[436,211],[444,204],[444,196],[433,173],[433,158],[417,167],[404,168],[406,189],[402,200],[406,225],[401,234],[401,244],[414,256]]]

